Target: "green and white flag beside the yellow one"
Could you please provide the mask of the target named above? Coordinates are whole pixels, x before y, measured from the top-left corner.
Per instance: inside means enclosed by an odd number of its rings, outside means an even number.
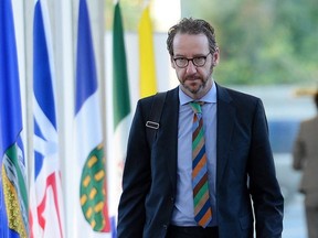
[[[117,2],[114,8],[113,25],[114,158],[108,163],[109,175],[112,177],[112,183],[109,183],[109,191],[112,191],[109,214],[113,220],[114,217],[117,216],[117,207],[121,194],[123,167],[126,156],[128,131],[131,122],[129,97],[124,30],[120,6],[119,2]]]

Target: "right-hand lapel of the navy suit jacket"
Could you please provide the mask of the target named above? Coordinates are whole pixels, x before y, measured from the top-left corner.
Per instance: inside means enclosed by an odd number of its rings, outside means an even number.
[[[225,88],[216,85],[216,186],[219,187],[231,150],[231,139],[235,121],[235,108],[231,105],[232,98]]]

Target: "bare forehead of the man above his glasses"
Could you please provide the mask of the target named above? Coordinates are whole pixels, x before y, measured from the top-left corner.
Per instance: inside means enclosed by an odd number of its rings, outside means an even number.
[[[174,55],[193,55],[209,53],[209,41],[204,34],[177,33],[173,39]]]

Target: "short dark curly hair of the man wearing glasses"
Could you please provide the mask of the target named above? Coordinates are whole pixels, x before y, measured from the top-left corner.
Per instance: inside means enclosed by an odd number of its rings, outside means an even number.
[[[218,48],[214,28],[212,25],[201,19],[183,18],[178,24],[173,25],[168,31],[167,48],[171,56],[173,55],[173,39],[177,33],[194,35],[202,33],[208,37],[210,52],[215,52]]]

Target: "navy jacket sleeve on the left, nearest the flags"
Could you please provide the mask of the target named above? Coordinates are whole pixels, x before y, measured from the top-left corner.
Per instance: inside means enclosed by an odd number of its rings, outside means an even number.
[[[141,238],[145,225],[145,198],[151,184],[151,173],[141,108],[138,101],[128,138],[123,194],[118,206],[118,238]]]

